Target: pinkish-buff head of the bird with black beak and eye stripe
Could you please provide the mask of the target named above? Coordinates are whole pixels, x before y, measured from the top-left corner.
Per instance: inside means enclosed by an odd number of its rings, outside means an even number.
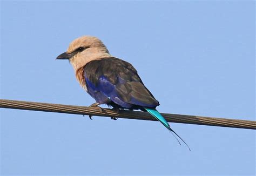
[[[97,37],[82,36],[73,40],[66,52],[56,59],[69,59],[75,70],[80,69],[92,60],[111,57],[106,46]]]

